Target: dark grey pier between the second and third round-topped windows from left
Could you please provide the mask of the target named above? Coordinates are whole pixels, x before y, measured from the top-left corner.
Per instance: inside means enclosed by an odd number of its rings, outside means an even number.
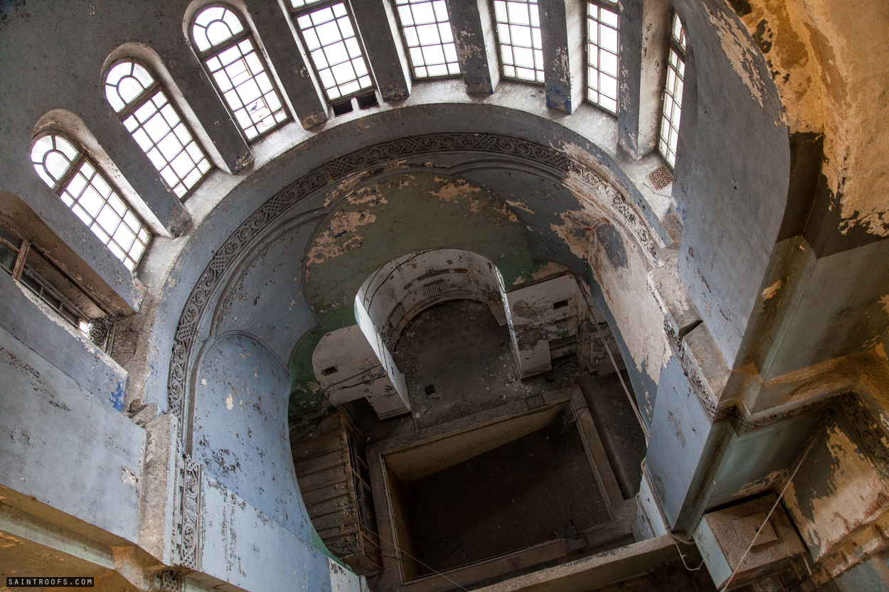
[[[196,137],[203,140],[208,150],[212,147],[218,152],[226,172],[235,174],[251,164],[253,155],[244,136],[188,42],[177,37],[170,47],[157,47],[156,50],[162,56],[174,56],[173,59],[164,58],[164,67],[176,83],[182,99],[190,108],[196,109],[200,120],[200,128],[193,126],[192,130]]]

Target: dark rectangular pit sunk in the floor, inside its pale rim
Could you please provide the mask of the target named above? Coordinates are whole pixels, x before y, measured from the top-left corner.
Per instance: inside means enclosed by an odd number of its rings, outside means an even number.
[[[611,519],[576,424],[561,433],[543,428],[399,485],[420,577]]]

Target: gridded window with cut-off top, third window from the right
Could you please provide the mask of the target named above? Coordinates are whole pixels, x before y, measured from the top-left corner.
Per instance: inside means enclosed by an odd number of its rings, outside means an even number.
[[[494,0],[503,76],[543,82],[543,41],[537,0]]]

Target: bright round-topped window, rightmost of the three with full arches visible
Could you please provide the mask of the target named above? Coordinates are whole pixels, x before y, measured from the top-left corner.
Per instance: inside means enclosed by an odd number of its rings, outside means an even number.
[[[256,44],[235,12],[225,6],[204,8],[191,36],[247,140],[288,119]]]

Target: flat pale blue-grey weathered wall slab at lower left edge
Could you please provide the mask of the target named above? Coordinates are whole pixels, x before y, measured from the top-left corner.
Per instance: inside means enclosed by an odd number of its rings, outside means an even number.
[[[2,329],[0,365],[0,485],[135,544],[145,430]]]

